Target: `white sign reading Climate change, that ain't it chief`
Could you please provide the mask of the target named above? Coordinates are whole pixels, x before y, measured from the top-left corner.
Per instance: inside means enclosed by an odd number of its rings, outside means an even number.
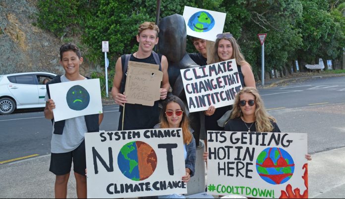
[[[235,59],[180,72],[189,112],[207,110],[210,105],[231,105],[242,89]]]

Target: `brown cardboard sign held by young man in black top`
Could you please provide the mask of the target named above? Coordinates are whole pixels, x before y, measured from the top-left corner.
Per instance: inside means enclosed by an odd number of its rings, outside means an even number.
[[[153,106],[161,98],[163,72],[159,65],[128,61],[128,70],[124,95],[127,103]]]

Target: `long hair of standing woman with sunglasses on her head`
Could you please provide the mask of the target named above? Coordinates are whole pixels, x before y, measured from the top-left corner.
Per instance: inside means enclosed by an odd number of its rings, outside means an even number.
[[[244,56],[243,56],[242,51],[241,51],[241,48],[237,44],[237,41],[235,40],[235,38],[233,38],[233,37],[227,38],[227,37],[225,37],[226,33],[223,33],[223,34],[224,34],[224,37],[221,38],[221,39],[217,38],[216,43],[213,46],[210,63],[217,63],[217,62],[221,61],[219,56],[218,56],[219,42],[221,40],[228,40],[228,41],[230,41],[231,46],[232,46],[232,56],[231,56],[231,59],[234,58],[236,60],[236,64],[237,65],[241,66],[243,64],[248,64],[250,66],[250,64],[244,59]],[[251,68],[251,66],[250,66],[250,68]]]

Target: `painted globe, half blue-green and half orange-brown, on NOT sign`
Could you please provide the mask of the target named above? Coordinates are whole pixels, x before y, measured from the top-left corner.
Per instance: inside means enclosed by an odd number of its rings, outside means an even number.
[[[124,176],[133,181],[142,181],[156,170],[157,155],[152,147],[135,141],[125,144],[117,155],[117,165]]]

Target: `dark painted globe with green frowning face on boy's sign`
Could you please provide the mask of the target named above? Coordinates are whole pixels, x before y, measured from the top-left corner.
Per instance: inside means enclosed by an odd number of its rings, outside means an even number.
[[[80,86],[72,86],[66,94],[67,105],[72,110],[83,110],[90,103],[90,94]]]

